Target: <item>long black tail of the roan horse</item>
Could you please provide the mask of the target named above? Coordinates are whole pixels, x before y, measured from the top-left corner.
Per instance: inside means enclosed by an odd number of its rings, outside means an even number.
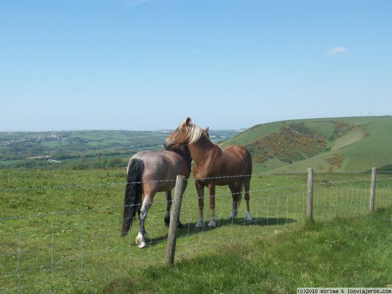
[[[131,159],[126,177],[122,236],[128,233],[136,216],[139,199],[142,195],[142,184],[140,182],[142,180],[143,169],[143,160],[140,158]]]

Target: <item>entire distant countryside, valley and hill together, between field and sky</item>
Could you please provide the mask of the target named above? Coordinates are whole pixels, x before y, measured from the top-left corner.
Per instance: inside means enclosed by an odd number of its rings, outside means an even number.
[[[125,167],[140,150],[162,150],[171,132],[0,132],[0,169]],[[289,120],[209,134],[222,147],[247,147],[254,173],[392,170],[391,116]]]

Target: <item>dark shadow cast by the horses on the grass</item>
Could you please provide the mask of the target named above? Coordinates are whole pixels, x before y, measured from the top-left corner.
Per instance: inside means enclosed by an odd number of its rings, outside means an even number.
[[[291,224],[294,222],[297,222],[297,221],[295,219],[289,219],[289,218],[258,218],[258,219],[253,219],[252,221],[248,221],[248,222],[244,222],[244,219],[234,219],[234,220],[221,219],[221,220],[217,220],[217,222],[216,222],[217,226],[215,228],[209,228],[208,221],[205,221],[204,227],[201,229],[195,228],[196,222],[186,222],[186,223],[183,223],[182,228],[178,228],[177,238],[182,238],[182,237],[186,237],[189,235],[201,234],[201,233],[205,233],[205,232],[209,232],[209,231],[213,232],[214,230],[216,230],[218,228],[229,227],[229,226],[254,226],[254,225],[280,226],[280,225],[285,225],[285,224]],[[162,242],[167,242],[168,235],[169,235],[169,233],[165,234],[164,236],[151,238],[146,243],[149,246],[156,246],[156,245],[162,244]]]

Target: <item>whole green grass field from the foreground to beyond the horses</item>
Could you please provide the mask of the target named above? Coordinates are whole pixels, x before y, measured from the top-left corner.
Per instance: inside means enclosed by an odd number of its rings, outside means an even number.
[[[389,208],[375,214],[368,213],[369,173],[315,173],[315,223],[306,221],[306,173],[255,174],[253,221],[243,221],[245,203],[228,221],[231,196],[219,187],[218,227],[201,231],[190,179],[174,267],[164,266],[162,193],[148,211],[147,248],[134,244],[137,223],[120,237],[124,183],[123,169],[0,171],[0,293],[294,293],[391,284],[391,173],[377,175],[376,208]]]

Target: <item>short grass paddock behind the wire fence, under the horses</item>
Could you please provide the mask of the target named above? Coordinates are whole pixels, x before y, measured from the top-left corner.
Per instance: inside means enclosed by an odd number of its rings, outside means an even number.
[[[345,178],[342,180],[342,178]],[[358,216],[369,211],[370,173],[316,173],[313,216]],[[181,206],[176,260],[214,252],[230,243],[293,230],[306,219],[306,173],[254,174],[251,180],[252,221],[245,222],[245,203],[238,218],[227,186],[217,187],[216,229],[196,230],[198,201],[189,179]],[[124,182],[18,187],[1,182],[0,293],[56,293],[91,287],[99,289],[133,270],[165,260],[168,228],[165,196],[158,193],[148,210],[147,248],[134,242],[135,221],[127,237],[120,236]],[[23,186],[23,184],[21,184]],[[245,202],[245,201],[244,201]],[[375,207],[392,205],[392,175],[378,173]],[[74,207],[74,209],[70,209]],[[55,210],[57,208],[57,210]]]

